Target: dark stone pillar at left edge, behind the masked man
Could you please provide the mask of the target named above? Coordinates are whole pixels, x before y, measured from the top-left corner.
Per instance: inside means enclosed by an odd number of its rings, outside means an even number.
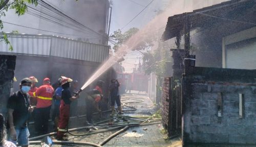
[[[12,87],[16,56],[0,55],[0,113],[6,116],[7,101]]]

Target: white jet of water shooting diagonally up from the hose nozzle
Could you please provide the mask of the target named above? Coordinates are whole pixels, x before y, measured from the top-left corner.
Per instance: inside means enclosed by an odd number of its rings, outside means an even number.
[[[163,13],[160,13],[154,19],[152,19],[146,26],[125,41],[120,47],[118,47],[115,56],[110,57],[108,60],[104,61],[100,67],[94,72],[92,77],[81,87],[81,90],[88,87],[93,81],[95,81],[99,76],[101,76],[106,70],[108,70],[116,62],[120,61],[126,54],[131,53],[134,48],[136,48],[142,40],[150,36],[157,36],[161,38],[163,29],[166,26],[166,20],[169,16],[183,13],[184,9],[173,9],[180,8],[182,3],[170,3],[169,7],[166,7],[166,10]],[[186,9],[186,11],[192,11],[193,9]],[[153,30],[153,31],[152,31]],[[162,31],[161,31],[162,30]],[[158,33],[158,34],[156,34]],[[160,35],[161,34],[161,35]]]

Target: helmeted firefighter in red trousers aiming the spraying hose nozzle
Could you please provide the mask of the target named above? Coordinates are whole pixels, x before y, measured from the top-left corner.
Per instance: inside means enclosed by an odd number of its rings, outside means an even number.
[[[78,99],[78,95],[72,96],[70,92],[70,82],[73,80],[67,77],[61,77],[61,87],[63,88],[61,92],[61,100],[59,107],[59,123],[57,131],[57,140],[67,140],[63,138],[64,134],[67,132],[69,116],[70,116],[70,104],[72,101]]]

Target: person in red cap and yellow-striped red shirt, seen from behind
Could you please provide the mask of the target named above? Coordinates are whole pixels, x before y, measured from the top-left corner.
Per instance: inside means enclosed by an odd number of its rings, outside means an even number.
[[[44,85],[40,86],[36,92],[37,96],[36,112],[35,112],[35,131],[37,135],[47,134],[48,120],[50,118],[50,110],[52,106],[52,97],[54,89],[50,85],[50,79],[44,79]]]

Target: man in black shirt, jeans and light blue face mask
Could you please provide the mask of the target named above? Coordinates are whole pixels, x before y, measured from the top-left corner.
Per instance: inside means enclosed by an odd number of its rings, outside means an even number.
[[[33,107],[29,105],[28,91],[31,88],[31,80],[24,78],[20,84],[20,90],[14,92],[8,99],[8,140],[19,146],[29,145],[29,130],[27,120],[29,113],[33,111]]]

